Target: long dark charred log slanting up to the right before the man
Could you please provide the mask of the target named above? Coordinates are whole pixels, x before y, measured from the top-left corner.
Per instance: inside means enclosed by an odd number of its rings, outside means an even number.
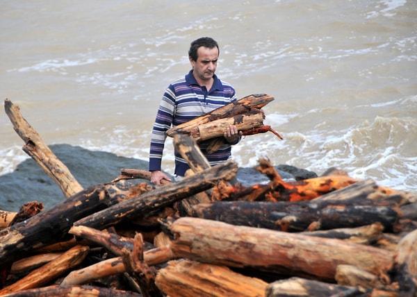
[[[104,229],[124,220],[138,217],[155,209],[165,207],[190,195],[205,191],[213,187],[213,184],[221,179],[229,180],[236,176],[238,166],[233,161],[211,167],[194,176],[188,176],[178,183],[172,183],[165,187],[159,187],[152,192],[142,194],[129,201],[123,201],[108,209],[90,214],[74,223],[74,226],[88,226],[96,229]]]

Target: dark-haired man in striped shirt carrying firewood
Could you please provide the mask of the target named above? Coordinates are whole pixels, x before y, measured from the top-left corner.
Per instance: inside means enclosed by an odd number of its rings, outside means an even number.
[[[161,171],[161,160],[165,145],[166,131],[211,110],[220,108],[237,100],[234,87],[221,81],[215,75],[219,57],[219,46],[210,37],[201,37],[190,44],[188,58],[193,69],[167,87],[156,114],[149,149],[149,171],[151,182],[159,185],[161,180],[171,180]],[[241,131],[231,125],[224,131],[226,144],[218,151],[208,155],[207,142],[201,142],[199,148],[212,166],[231,159],[231,145],[240,140]],[[175,176],[184,176],[188,167],[186,160],[178,152],[175,154]]]

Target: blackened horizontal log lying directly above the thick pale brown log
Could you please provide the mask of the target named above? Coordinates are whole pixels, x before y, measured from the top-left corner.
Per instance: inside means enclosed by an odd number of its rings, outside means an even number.
[[[193,207],[194,217],[238,226],[256,226],[285,232],[353,228],[382,223],[393,230],[398,221],[395,203],[370,199],[348,201],[216,201]]]

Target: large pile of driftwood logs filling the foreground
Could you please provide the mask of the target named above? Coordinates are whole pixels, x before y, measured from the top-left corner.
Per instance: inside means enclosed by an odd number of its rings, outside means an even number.
[[[8,99],[24,151],[67,197],[0,211],[0,296],[416,296],[416,197],[329,170],[231,184],[191,133],[173,133],[186,178],[154,187],[122,169],[83,189]],[[261,124],[259,126],[262,126]],[[248,129],[250,130],[250,129]],[[200,134],[201,135],[201,134]]]

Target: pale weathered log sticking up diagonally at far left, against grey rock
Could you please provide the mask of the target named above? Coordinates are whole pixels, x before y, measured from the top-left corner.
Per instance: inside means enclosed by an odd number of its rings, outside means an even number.
[[[71,197],[80,192],[83,187],[72,176],[70,170],[60,162],[51,149],[44,144],[40,135],[22,117],[19,108],[9,99],[4,101],[4,110],[13,124],[17,135],[23,141],[23,151],[35,160],[47,175],[60,187],[65,197]]]

